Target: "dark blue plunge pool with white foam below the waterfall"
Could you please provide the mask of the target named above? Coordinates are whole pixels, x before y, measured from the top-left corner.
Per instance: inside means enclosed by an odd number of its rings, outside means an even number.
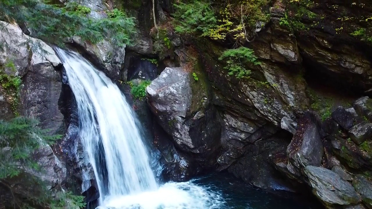
[[[290,192],[270,193],[217,173],[128,196],[110,196],[97,209],[319,209]]]

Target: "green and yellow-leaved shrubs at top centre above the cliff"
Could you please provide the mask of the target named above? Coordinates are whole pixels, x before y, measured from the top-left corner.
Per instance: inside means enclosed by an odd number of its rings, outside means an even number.
[[[243,0],[218,3],[192,1],[174,4],[176,32],[201,33],[215,40],[223,40],[228,34],[237,41],[244,41],[256,34],[258,23],[269,20],[270,0]]]

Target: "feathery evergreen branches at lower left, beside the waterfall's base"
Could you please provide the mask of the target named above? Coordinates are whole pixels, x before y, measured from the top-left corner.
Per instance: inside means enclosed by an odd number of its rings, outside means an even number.
[[[40,170],[41,168],[38,167],[38,164],[31,159],[31,154],[41,144],[52,144],[61,137],[60,135],[47,135],[49,130],[36,128],[37,125],[37,120],[25,117],[13,118],[9,121],[0,120],[1,184],[3,184],[3,179],[20,174],[19,165]],[[4,149],[5,147],[9,149]],[[85,206],[83,196],[76,196],[70,192],[65,193],[63,191],[53,193],[47,189],[40,179],[31,178],[28,181],[35,184],[39,188],[40,193],[32,194],[34,195],[33,197],[17,203],[20,208],[32,208],[35,203],[51,209],[64,209],[67,205],[70,206],[69,208]],[[9,189],[12,190],[11,187]]]

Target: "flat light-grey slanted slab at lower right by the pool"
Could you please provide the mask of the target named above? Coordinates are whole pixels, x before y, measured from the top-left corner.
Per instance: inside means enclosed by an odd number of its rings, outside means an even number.
[[[309,165],[304,170],[309,178],[313,193],[324,203],[327,208],[336,205],[349,205],[359,203],[360,197],[354,187],[341,179],[331,170]]]

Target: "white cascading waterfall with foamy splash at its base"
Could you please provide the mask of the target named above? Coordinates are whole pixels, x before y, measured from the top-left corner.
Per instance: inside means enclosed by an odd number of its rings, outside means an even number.
[[[159,187],[135,113],[119,88],[75,52],[55,48],[76,97],[79,136],[89,157],[102,208],[220,208],[218,193],[190,182]]]

